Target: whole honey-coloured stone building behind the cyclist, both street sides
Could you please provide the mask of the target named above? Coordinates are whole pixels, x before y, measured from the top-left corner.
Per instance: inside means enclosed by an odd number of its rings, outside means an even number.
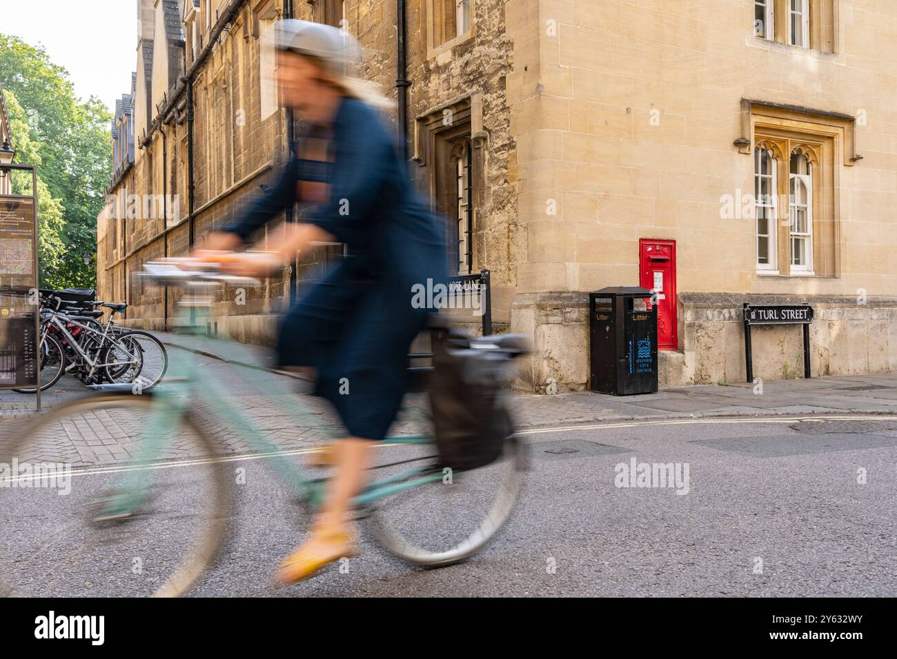
[[[175,296],[127,273],[239,212],[288,152],[263,46],[294,16],[358,37],[404,109],[452,267],[488,268],[495,324],[535,347],[520,388],[588,387],[588,291],[611,285],[658,291],[661,384],[744,381],[745,302],[814,306],[814,375],[897,369],[897,4],[140,4],[135,162],[109,193],[181,203],[117,232],[100,218],[100,292],[128,296],[129,322],[165,325]],[[269,341],[270,314],[317,267],[242,306],[228,293],[219,332]],[[794,326],[755,329],[753,347],[754,375],[802,372]]]

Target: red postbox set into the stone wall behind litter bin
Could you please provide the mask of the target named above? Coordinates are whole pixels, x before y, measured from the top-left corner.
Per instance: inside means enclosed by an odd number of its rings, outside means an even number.
[[[652,290],[658,305],[658,349],[679,347],[676,326],[675,240],[639,239],[640,286]]]

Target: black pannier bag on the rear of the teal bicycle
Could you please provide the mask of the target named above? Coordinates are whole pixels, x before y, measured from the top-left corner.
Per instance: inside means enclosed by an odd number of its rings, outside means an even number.
[[[430,403],[440,464],[468,470],[492,463],[513,432],[504,396],[510,360],[526,352],[517,334],[433,336]]]

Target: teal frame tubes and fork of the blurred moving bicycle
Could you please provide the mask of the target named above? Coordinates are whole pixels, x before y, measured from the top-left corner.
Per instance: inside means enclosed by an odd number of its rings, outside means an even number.
[[[181,314],[182,320],[187,317],[189,317],[189,322],[181,326],[186,328],[187,332],[198,334],[199,330],[205,327],[207,310],[204,307],[191,306],[189,313]],[[143,473],[152,469],[153,465],[159,464],[158,455],[161,454],[161,449],[173,430],[179,426],[181,417],[189,407],[187,400],[193,396],[201,398],[204,403],[213,408],[214,416],[230,428],[251,427],[247,413],[240,409],[239,405],[227,403],[229,397],[222,386],[212,377],[205,376],[203,369],[190,369],[189,361],[173,360],[172,377],[166,378],[169,381],[169,386],[164,386],[166,381],[162,380],[162,386],[157,386],[152,392],[150,420],[144,429],[143,437],[138,442],[141,448],[135,459],[135,468],[126,471],[123,487],[107,501],[100,517],[127,516],[141,506],[147,495],[146,490],[140,487]],[[246,369],[246,379],[248,385],[256,387],[259,394],[266,395],[266,400],[273,401],[278,411],[283,412],[283,415],[289,418],[296,428],[308,427],[309,419],[313,420],[315,425],[320,424],[318,416],[309,411],[301,402],[301,395],[284,395],[282,392],[270,391],[271,387],[266,386],[261,381],[259,373],[253,369]],[[179,390],[182,390],[181,385],[189,386],[190,395],[179,395]],[[299,461],[290,460],[289,455],[285,455],[292,454],[291,451],[283,451],[268,439],[257,436],[257,433],[246,433],[243,438],[257,454],[271,462],[274,471],[292,487],[300,498],[307,501],[313,509],[319,507],[324,496],[326,479],[311,478],[309,473],[300,466]],[[434,444],[434,440],[427,436],[409,435],[385,438],[381,443],[428,445]],[[442,471],[434,469],[432,463],[412,467],[388,478],[370,482],[353,499],[352,504],[354,507],[367,506],[378,499],[441,481],[442,478]]]

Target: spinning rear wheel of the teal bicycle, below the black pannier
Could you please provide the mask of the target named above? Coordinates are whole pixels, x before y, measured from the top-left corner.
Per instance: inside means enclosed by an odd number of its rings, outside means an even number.
[[[370,516],[371,530],[384,549],[415,565],[435,568],[468,558],[508,521],[527,469],[525,450],[511,436],[492,464],[454,473],[436,467],[412,476],[429,474],[431,482],[381,499]],[[435,464],[436,453],[435,444],[384,447],[375,473],[397,476],[415,465]]]

